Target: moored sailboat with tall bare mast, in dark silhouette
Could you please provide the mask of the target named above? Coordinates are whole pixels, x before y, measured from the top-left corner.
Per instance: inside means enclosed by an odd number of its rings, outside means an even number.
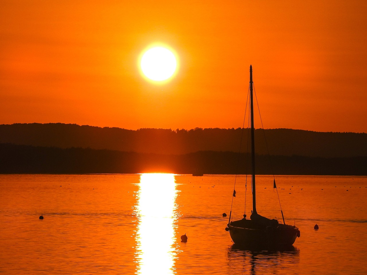
[[[232,210],[229,215],[229,221],[226,231],[229,231],[230,237],[235,244],[246,247],[257,248],[277,248],[290,247],[295,239],[300,236],[299,229],[295,225],[288,225],[276,219],[268,219],[261,216],[256,211],[256,185],[255,185],[255,143],[254,143],[254,107],[253,107],[253,82],[252,82],[252,65],[250,65],[250,114],[251,114],[251,172],[252,172],[252,214],[250,219],[231,221]],[[275,179],[274,179],[274,187]],[[235,192],[233,196],[235,196]]]

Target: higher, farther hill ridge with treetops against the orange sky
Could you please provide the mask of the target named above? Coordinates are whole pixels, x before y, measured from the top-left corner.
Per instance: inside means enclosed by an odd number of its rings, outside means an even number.
[[[247,129],[243,131],[241,128],[127,130],[62,123],[3,124],[0,125],[0,143],[181,155],[197,151],[238,152],[242,133],[243,144],[246,144]],[[268,147],[270,155],[321,158],[367,156],[367,133],[255,129],[255,144],[259,155],[268,154]],[[241,151],[246,151],[246,146],[242,148]]]

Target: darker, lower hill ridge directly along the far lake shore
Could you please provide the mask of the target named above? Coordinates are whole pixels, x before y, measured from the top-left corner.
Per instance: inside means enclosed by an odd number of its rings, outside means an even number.
[[[246,174],[248,154],[198,151],[182,155],[34,147],[0,144],[0,173],[145,173]],[[256,155],[257,174],[367,175],[367,157],[320,158]],[[247,170],[246,170],[247,169]]]

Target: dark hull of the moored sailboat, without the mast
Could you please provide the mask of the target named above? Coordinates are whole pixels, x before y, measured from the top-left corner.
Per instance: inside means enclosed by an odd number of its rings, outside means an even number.
[[[292,246],[300,234],[298,228],[292,225],[259,226],[246,219],[232,221],[227,227],[234,243],[265,249]]]

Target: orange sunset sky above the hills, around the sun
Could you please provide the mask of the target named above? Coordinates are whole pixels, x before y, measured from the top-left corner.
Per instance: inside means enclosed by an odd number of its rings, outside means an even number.
[[[2,0],[0,124],[237,128],[252,64],[264,128],[367,132],[367,2],[298,2]],[[164,85],[137,66],[155,42]]]

